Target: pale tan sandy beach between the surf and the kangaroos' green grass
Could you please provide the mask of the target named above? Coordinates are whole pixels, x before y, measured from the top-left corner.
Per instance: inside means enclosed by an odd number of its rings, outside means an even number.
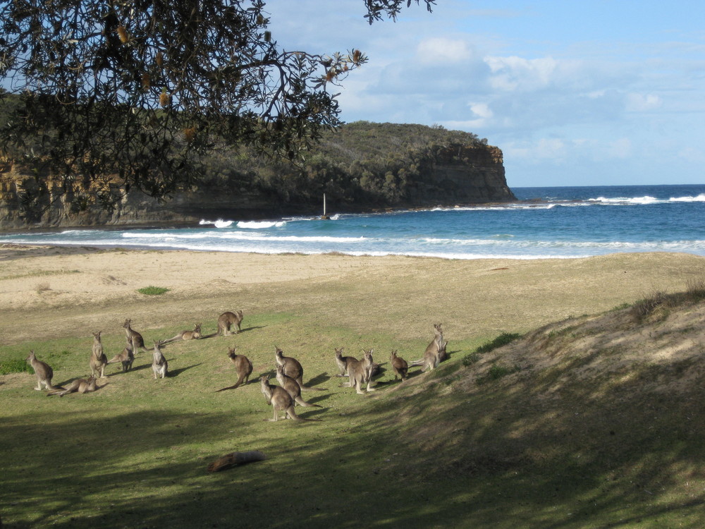
[[[322,324],[454,339],[527,332],[705,278],[705,257],[612,254],[580,259],[261,255],[0,245],[0,342],[214,321],[225,310],[305,312]],[[137,293],[162,286],[162,296]],[[450,332],[450,331],[448,331]]]

